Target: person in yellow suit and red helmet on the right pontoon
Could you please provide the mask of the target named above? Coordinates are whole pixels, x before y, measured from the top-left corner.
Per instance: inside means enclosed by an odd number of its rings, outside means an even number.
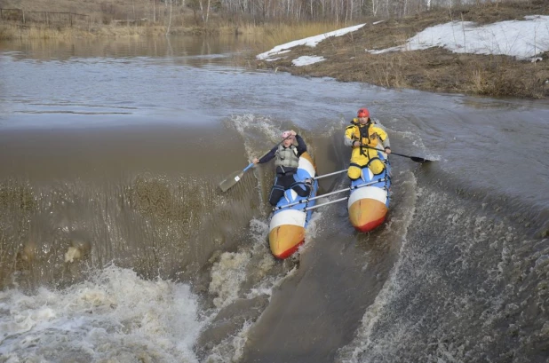
[[[383,130],[370,119],[370,111],[367,108],[358,110],[357,118],[354,118],[351,126],[345,130],[345,145],[353,147],[351,164],[347,175],[351,180],[361,178],[362,168],[368,166],[372,173],[379,174],[385,169],[385,164],[379,160],[378,152],[369,147],[376,147],[391,154],[391,145],[386,130]],[[379,140],[383,149],[378,146]]]

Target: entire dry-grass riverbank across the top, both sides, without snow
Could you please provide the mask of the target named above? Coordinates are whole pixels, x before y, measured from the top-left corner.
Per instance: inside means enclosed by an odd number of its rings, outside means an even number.
[[[15,6],[8,0],[4,5]],[[32,7],[31,7],[32,4]],[[61,11],[64,4],[70,11],[78,11],[70,0],[50,6]],[[10,39],[69,39],[93,37],[154,37],[169,35],[186,36],[247,36],[255,54],[270,47],[306,36],[316,36],[330,30],[352,24],[334,22],[316,23],[255,23],[235,22],[211,15],[209,22],[201,22],[190,12],[179,11],[167,20],[166,9],[154,12],[155,21],[113,20],[111,8],[99,12],[87,4],[83,12],[90,13],[88,22],[76,22],[68,27],[44,25],[0,25],[0,40]],[[98,3],[99,4],[99,3]],[[95,5],[98,5],[95,4]],[[70,7],[72,5],[73,7]],[[44,9],[46,3],[28,2],[27,9]],[[96,6],[97,7],[97,6]],[[137,13],[149,13],[147,9]],[[148,9],[150,10],[150,9]],[[6,14],[4,14],[5,16]],[[134,14],[132,14],[133,16]],[[523,20],[529,15],[549,15],[548,4],[543,0],[519,3],[496,3],[438,9],[402,19],[360,20],[366,25],[346,36],[331,37],[314,48],[299,46],[279,59],[266,61],[251,56],[242,60],[245,67],[273,69],[302,76],[329,76],[342,82],[370,83],[386,88],[417,89],[422,91],[451,92],[490,97],[514,97],[525,99],[549,98],[549,52],[540,55],[537,62],[518,60],[506,55],[481,55],[458,53],[440,47],[418,51],[393,51],[374,54],[369,51],[402,46],[418,32],[450,21],[472,21],[479,25],[504,20]],[[67,17],[65,17],[67,18]],[[63,19],[65,19],[63,18]],[[54,18],[48,18],[52,21]],[[67,18],[69,19],[69,18]],[[65,20],[67,20],[65,19]],[[105,24],[107,22],[107,24]],[[166,24],[171,24],[167,26]],[[535,42],[549,43],[549,39]],[[508,39],[513,46],[514,39]],[[369,51],[365,51],[369,50]],[[300,56],[322,57],[322,62],[307,66],[295,66],[293,59]]]

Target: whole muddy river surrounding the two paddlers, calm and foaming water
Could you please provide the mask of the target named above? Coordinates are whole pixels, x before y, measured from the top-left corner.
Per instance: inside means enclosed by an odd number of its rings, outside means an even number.
[[[250,49],[0,43],[0,362],[547,362],[549,104],[251,71]],[[274,166],[219,182],[288,129],[345,169],[359,107],[434,162],[391,157],[377,231],[331,204],[275,260]]]

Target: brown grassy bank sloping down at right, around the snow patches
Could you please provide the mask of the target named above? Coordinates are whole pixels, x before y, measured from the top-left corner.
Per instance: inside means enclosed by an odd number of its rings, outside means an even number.
[[[400,20],[366,25],[346,36],[330,37],[315,47],[298,46],[278,59],[256,59],[255,67],[270,68],[292,75],[328,76],[342,82],[371,83],[394,89],[463,93],[490,97],[549,98],[549,51],[537,62],[505,55],[455,53],[443,48],[372,54],[401,46],[421,30],[454,20],[479,25],[504,20],[523,20],[528,15],[549,15],[542,1],[530,4],[485,4],[426,12]],[[549,39],[539,41],[549,42]],[[513,40],[510,40],[513,42]],[[295,66],[301,56],[322,57],[323,61]]]

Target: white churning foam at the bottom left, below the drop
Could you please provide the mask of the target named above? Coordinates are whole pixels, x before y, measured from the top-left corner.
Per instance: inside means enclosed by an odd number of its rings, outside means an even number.
[[[89,361],[197,362],[192,348],[206,321],[188,285],[142,280],[115,266],[63,290],[0,292],[0,311],[0,356],[10,362],[69,353]]]

